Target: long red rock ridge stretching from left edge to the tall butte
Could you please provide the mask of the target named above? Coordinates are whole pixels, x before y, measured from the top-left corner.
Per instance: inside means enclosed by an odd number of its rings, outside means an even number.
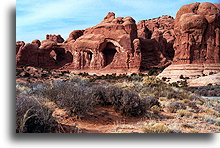
[[[170,63],[173,58],[171,16],[143,20],[137,25],[132,17],[115,17],[109,12],[104,20],[85,30],[74,30],[64,41],[60,35],[31,44],[17,43],[17,66],[67,68],[79,71],[101,70],[139,72]]]

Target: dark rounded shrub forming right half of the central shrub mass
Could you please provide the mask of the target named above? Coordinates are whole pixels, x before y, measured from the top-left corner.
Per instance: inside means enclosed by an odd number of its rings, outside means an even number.
[[[96,88],[100,86],[95,86]],[[123,90],[116,86],[102,87],[95,92],[99,103],[104,106],[112,105],[114,109],[126,116],[142,116],[146,111],[146,104],[137,93]]]

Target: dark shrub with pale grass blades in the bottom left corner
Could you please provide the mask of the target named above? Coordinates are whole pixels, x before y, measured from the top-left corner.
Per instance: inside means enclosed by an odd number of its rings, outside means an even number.
[[[58,123],[52,111],[35,98],[27,96],[16,98],[16,132],[50,133],[56,132]]]

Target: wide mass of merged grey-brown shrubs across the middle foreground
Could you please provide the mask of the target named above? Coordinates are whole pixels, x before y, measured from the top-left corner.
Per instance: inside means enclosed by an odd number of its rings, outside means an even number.
[[[37,96],[53,101],[60,108],[65,108],[77,116],[93,111],[96,105],[112,105],[126,116],[141,116],[146,104],[134,91],[105,83],[92,83],[88,79],[61,81],[52,83],[47,88],[37,91]]]

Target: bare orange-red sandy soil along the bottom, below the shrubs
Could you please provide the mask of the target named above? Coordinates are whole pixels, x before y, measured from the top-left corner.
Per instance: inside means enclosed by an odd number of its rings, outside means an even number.
[[[220,132],[219,126],[199,119],[178,117],[176,113],[162,112],[155,115],[149,112],[148,116],[141,118],[124,117],[111,106],[97,106],[94,112],[82,117],[54,108],[54,117],[63,127],[68,127],[69,133],[144,133],[143,127],[149,123],[164,123],[178,133]]]

